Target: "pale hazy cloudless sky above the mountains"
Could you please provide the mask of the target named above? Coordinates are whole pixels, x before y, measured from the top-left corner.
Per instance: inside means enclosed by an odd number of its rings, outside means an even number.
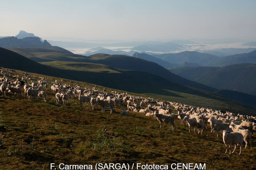
[[[255,0],[4,1],[0,36],[256,40]]]

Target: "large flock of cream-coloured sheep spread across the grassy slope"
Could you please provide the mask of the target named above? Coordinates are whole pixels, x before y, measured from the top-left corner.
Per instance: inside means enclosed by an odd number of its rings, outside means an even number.
[[[78,100],[83,107],[83,103],[88,107],[92,106],[92,109],[98,109],[98,104],[101,107],[101,111],[105,111],[105,107],[110,108],[110,114],[113,113],[113,107],[121,107],[123,103],[127,103],[127,110],[124,108],[120,115],[129,115],[129,111],[139,112],[145,114],[145,116],[155,117],[161,128],[161,122],[170,123],[172,125],[172,130],[174,130],[174,119],[180,119],[181,124],[187,122],[190,129],[195,132],[197,129],[198,134],[203,135],[205,129],[207,129],[207,124],[210,124],[211,132],[218,133],[223,132],[223,142],[226,145],[226,152],[229,146],[229,154],[231,154],[231,145],[235,145],[235,149],[232,153],[236,151],[238,144],[240,144],[240,153],[242,152],[243,141],[245,142],[245,148],[247,147],[247,141],[249,141],[252,149],[251,136],[253,132],[256,131],[256,117],[248,115],[237,115],[233,113],[220,110],[213,110],[209,108],[199,108],[194,106],[189,106],[185,104],[180,104],[170,101],[159,101],[151,98],[143,98],[138,96],[129,95],[127,93],[118,93],[116,91],[106,92],[105,88],[93,87],[92,89],[83,88],[76,83],[76,86],[72,87],[66,83],[60,83],[54,78],[49,80],[49,78],[39,77],[40,80],[32,78],[27,72],[23,73],[23,76],[13,75],[10,72],[5,72],[3,68],[1,69],[1,74],[3,78],[0,78],[0,94],[5,96],[5,92],[12,92],[19,95],[21,99],[21,86],[23,85],[25,99],[28,100],[38,100],[38,97],[42,97],[44,102],[46,102],[46,92],[48,90],[48,85],[51,86],[51,93],[55,95],[56,105],[65,105],[68,103],[69,96],[74,98],[78,95]],[[14,71],[8,70],[6,71]],[[8,78],[16,79],[10,81]],[[30,83],[27,82],[30,81]],[[67,80],[61,80],[62,82],[67,82]],[[71,82],[75,83],[75,82]],[[98,89],[97,89],[98,88]],[[97,90],[96,90],[97,89]],[[101,90],[102,89],[102,90]],[[172,113],[172,107],[178,112],[178,114]],[[140,108],[140,109],[139,109]],[[247,119],[246,121],[239,122],[238,118]],[[233,131],[233,132],[232,132]]]

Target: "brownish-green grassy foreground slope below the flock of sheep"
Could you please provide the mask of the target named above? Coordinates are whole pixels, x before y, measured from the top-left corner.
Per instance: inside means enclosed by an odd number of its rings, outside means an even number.
[[[16,70],[17,74],[20,71]],[[32,76],[48,77],[30,73]],[[48,77],[51,79],[52,77]],[[60,81],[60,78],[55,78]],[[78,82],[92,88],[94,85]],[[75,84],[71,84],[75,85]],[[109,92],[110,89],[107,88]],[[206,169],[254,169],[255,137],[252,150],[242,156],[225,154],[222,135],[207,129],[204,135],[188,133],[188,125],[175,120],[175,130],[156,118],[130,112],[121,116],[122,107],[105,113],[81,108],[77,97],[66,106],[56,106],[54,95],[47,92],[47,102],[13,99],[11,93],[0,97],[0,169],[49,169],[50,163],[206,163]],[[118,90],[118,92],[120,92]],[[141,95],[134,94],[133,95]],[[145,96],[145,95],[143,95]],[[22,97],[24,97],[22,93]],[[3,128],[6,127],[6,128]],[[0,137],[1,137],[0,136]],[[234,148],[234,146],[233,146]],[[13,156],[8,157],[7,152]]]

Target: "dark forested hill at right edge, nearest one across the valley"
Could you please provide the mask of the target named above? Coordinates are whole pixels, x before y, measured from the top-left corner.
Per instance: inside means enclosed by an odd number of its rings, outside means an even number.
[[[256,64],[241,63],[225,67],[181,67],[170,69],[170,71],[217,89],[256,95]]]

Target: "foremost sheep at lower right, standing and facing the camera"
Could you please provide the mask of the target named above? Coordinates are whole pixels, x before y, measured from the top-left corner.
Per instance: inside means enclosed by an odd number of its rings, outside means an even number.
[[[228,145],[229,145],[229,155],[231,155],[231,145],[235,144],[235,149],[232,152],[232,153],[234,153],[236,151],[238,144],[240,144],[239,155],[241,155],[242,147],[243,147],[243,140],[244,140],[243,135],[238,132],[229,133],[227,130],[223,130],[223,131],[221,130],[221,132],[223,132],[223,142],[226,145],[225,153],[227,153],[227,151],[228,151]]]

